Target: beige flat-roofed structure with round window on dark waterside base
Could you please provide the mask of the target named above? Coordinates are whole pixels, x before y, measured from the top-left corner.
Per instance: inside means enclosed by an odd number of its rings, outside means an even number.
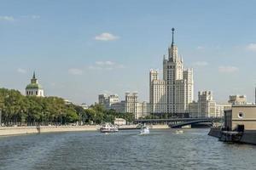
[[[212,127],[208,135],[223,142],[256,144],[256,105],[233,105],[224,111],[223,127]]]

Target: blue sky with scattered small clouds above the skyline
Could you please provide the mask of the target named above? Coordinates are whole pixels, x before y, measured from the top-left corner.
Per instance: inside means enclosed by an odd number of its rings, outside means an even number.
[[[254,101],[255,1],[0,0],[0,87],[24,93],[36,71],[45,94],[92,104],[137,91],[175,42],[198,90]]]

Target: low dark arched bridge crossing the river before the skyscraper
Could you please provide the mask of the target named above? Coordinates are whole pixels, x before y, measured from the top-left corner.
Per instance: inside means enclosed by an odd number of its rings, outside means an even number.
[[[172,128],[180,128],[188,125],[195,125],[207,122],[220,122],[219,117],[199,117],[199,118],[171,118],[171,119],[138,119],[136,123],[146,124],[168,124]]]

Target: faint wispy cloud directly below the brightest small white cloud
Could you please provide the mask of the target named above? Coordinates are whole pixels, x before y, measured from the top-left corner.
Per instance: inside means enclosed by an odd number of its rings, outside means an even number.
[[[90,65],[90,70],[114,70],[114,69],[124,69],[125,65],[115,63],[113,61],[96,61],[95,65]]]

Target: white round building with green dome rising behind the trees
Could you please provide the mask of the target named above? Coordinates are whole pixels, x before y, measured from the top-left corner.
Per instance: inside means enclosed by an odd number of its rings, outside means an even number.
[[[26,86],[26,96],[44,97],[44,88],[38,83],[35,72],[31,79],[31,83]]]

